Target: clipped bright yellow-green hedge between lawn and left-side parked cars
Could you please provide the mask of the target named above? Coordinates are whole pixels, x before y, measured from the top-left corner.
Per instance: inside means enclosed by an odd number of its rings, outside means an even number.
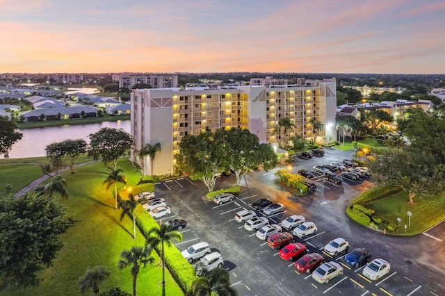
[[[142,206],[136,206],[134,213],[136,215],[136,225],[146,239],[148,238],[148,232],[151,229],[159,229],[159,224]],[[155,249],[159,256],[161,256],[161,245]],[[179,249],[174,245],[171,247],[164,245],[164,252],[165,266],[168,268],[179,287],[186,293],[191,289],[192,283],[197,279],[193,266],[188,263],[186,258],[179,252]]]

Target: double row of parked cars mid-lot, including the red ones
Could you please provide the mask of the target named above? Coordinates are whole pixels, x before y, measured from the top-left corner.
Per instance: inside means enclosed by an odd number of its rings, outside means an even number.
[[[267,215],[268,207],[273,204],[269,199],[262,198],[251,206]],[[244,223],[246,230],[255,231],[257,238],[266,240],[269,247],[280,250],[280,258],[286,261],[296,260],[294,268],[302,273],[312,272],[312,277],[319,283],[327,283],[343,273],[343,266],[338,262],[326,262],[324,256],[311,253],[303,243],[296,242],[296,237],[304,238],[314,235],[317,231],[316,224],[306,221],[302,215],[291,215],[279,224],[269,224],[267,217],[259,217],[257,212],[243,209],[236,213],[235,220]],[[377,280],[389,273],[390,265],[387,261],[380,258],[371,261],[371,253],[364,248],[357,248],[348,253],[349,247],[347,240],[336,238],[325,245],[323,252],[332,257],[346,254],[342,263],[350,267],[366,264],[362,273],[371,280]]]

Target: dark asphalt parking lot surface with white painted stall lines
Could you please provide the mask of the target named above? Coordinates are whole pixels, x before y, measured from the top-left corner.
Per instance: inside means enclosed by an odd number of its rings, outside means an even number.
[[[222,205],[202,199],[207,192],[202,181],[179,178],[156,183],[156,197],[164,197],[172,207],[172,214],[159,222],[173,218],[186,220],[187,227],[180,231],[183,240],[175,242],[175,245],[183,251],[196,242],[208,242],[212,251],[223,255],[225,268],[229,270],[231,283],[239,295],[444,295],[443,269],[430,268],[426,266],[426,258],[419,258],[428,257],[425,253],[433,252],[433,247],[443,249],[443,240],[428,236],[383,236],[350,222],[344,213],[350,199],[373,186],[368,178],[344,180],[341,184],[334,184],[326,181],[322,174],[317,174],[313,179],[316,182],[316,191],[303,197],[293,195],[275,182],[276,170],[286,169],[296,173],[302,168],[309,170],[314,165],[350,157],[348,152],[327,150],[323,157],[298,158],[291,163],[291,167],[279,167],[270,172],[253,172],[241,183],[242,190],[236,198]],[[233,186],[234,182],[234,176],[222,177],[218,180],[216,189]],[[250,204],[261,197],[285,206],[282,213],[268,216],[270,224],[279,223],[294,214],[303,215],[306,221],[314,222],[318,227],[317,233],[301,239],[295,237],[296,242],[302,242],[311,253],[323,255],[327,262],[341,263],[343,274],[329,283],[318,283],[312,279],[311,274],[297,272],[293,266],[295,260],[284,261],[278,256],[277,249],[271,249],[266,241],[259,240],[254,232],[244,229],[243,223],[234,220],[236,212],[244,208],[252,210]],[[257,215],[264,216],[259,211]],[[443,233],[436,232],[437,237]],[[369,281],[362,276],[363,266],[348,268],[342,263],[343,254],[332,257],[323,253],[323,247],[337,237],[349,241],[349,251],[356,247],[365,247],[371,252],[371,259],[384,258],[389,261],[389,274],[378,281]],[[419,249],[416,245],[419,243],[430,247]],[[443,261],[444,258],[439,259]]]

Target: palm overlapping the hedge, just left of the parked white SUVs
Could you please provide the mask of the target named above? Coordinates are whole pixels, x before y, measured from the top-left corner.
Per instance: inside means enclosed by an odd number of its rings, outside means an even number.
[[[148,238],[146,245],[151,247],[157,247],[161,244],[161,260],[162,260],[162,295],[165,296],[165,260],[164,260],[164,243],[169,247],[172,245],[172,239],[180,242],[182,240],[182,234],[179,231],[172,230],[167,224],[161,224],[159,228],[153,228],[148,231]]]

